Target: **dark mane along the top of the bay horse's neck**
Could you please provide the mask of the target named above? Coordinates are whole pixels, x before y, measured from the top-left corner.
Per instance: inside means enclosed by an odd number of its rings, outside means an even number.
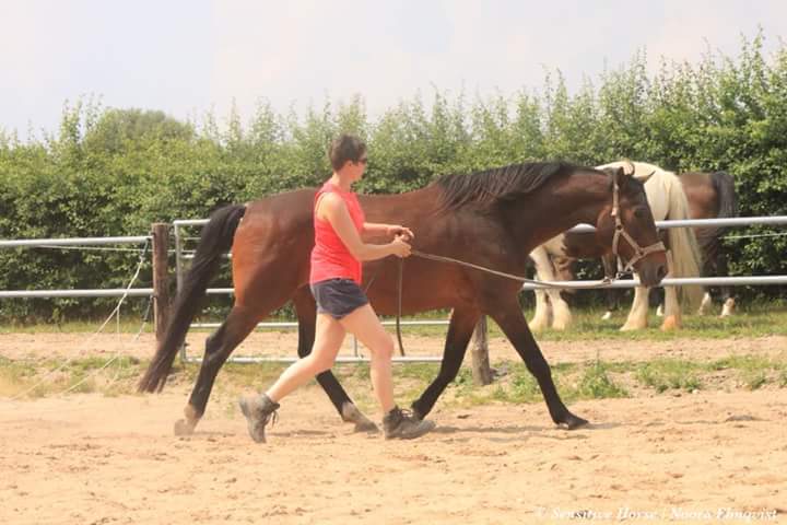
[[[510,201],[530,194],[552,177],[572,173],[579,167],[567,162],[512,164],[468,175],[443,175],[434,184],[442,190],[442,205],[445,210],[455,210],[470,203],[489,209],[501,201]]]

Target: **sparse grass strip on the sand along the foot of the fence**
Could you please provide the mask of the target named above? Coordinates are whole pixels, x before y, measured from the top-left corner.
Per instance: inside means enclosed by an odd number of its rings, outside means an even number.
[[[106,396],[133,394],[137,380],[148,362],[122,357],[107,365],[107,358],[63,360],[11,360],[0,357],[0,396],[15,396],[35,386],[26,397],[63,393],[102,393]],[[284,363],[227,363],[222,368],[215,390],[235,395],[242,390],[262,390],[287,366]],[[497,374],[492,385],[478,386],[469,366],[459,370],[447,386],[439,404],[444,407],[471,407],[490,402],[543,402],[541,389],[522,362],[493,364]],[[399,363],[393,366],[395,394],[402,407],[418,399],[437,377],[439,363]],[[199,363],[176,360],[168,384],[193,385]],[[374,411],[377,400],[372,390],[368,363],[340,364],[334,374],[364,411]],[[552,377],[566,402],[583,399],[621,398],[643,388],[656,393],[695,389],[787,387],[787,353],[727,357],[717,360],[659,358],[648,362],[560,363]],[[38,385],[38,383],[40,383]],[[37,385],[37,386],[36,386]],[[313,387],[316,382],[312,383]],[[228,410],[228,409],[227,409]]]

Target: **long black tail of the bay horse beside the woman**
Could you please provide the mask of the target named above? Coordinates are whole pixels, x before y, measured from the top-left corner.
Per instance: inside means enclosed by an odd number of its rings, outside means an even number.
[[[208,283],[219,270],[221,257],[232,247],[235,230],[246,207],[232,205],[211,214],[202,228],[197,253],[191,262],[183,288],[175,298],[172,318],[151,364],[137,387],[139,392],[161,392],[172,370],[178,349],[186,340],[191,320],[197,315]]]

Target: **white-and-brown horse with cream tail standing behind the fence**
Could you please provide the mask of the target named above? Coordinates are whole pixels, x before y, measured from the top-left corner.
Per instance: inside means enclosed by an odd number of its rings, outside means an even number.
[[[597,166],[597,168],[614,168],[627,166],[633,176],[644,180],[645,194],[656,220],[689,219],[691,211],[680,178],[672,172],[644,162],[621,161]],[[673,228],[662,235],[667,245],[669,277],[700,277],[702,255],[696,236],[692,229]],[[614,276],[618,268],[616,258],[610,253],[609,246],[588,233],[566,232],[549,240],[530,254],[536,272],[542,281],[572,280],[571,262],[575,259],[602,258],[604,272]],[[609,291],[610,293],[612,290]],[[668,287],[665,289],[665,320],[662,329],[673,329],[681,325],[681,300],[691,305],[700,305],[702,288],[697,285]],[[648,291],[646,287],[637,287],[634,302],[625,324],[621,330],[636,330],[647,326]],[[549,326],[565,329],[571,324],[571,311],[557,289],[536,291],[536,314],[530,328],[541,330]]]

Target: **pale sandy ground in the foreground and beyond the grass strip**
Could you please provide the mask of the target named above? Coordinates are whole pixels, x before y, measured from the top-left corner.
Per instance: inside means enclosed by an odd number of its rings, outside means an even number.
[[[150,355],[150,340],[87,337],[3,335],[0,353]],[[427,340],[410,348],[436,353],[439,340]],[[289,353],[293,341],[256,335],[249,347]],[[553,362],[598,349],[612,361],[784,348],[778,337],[543,345]],[[502,341],[492,355],[515,357]],[[0,523],[787,522],[786,388],[580,401],[572,409],[594,424],[573,432],[555,429],[543,404],[438,402],[432,434],[386,442],[352,433],[309,387],[286,399],[257,445],[221,389],[197,433],[174,436],[189,387],[0,398]]]

